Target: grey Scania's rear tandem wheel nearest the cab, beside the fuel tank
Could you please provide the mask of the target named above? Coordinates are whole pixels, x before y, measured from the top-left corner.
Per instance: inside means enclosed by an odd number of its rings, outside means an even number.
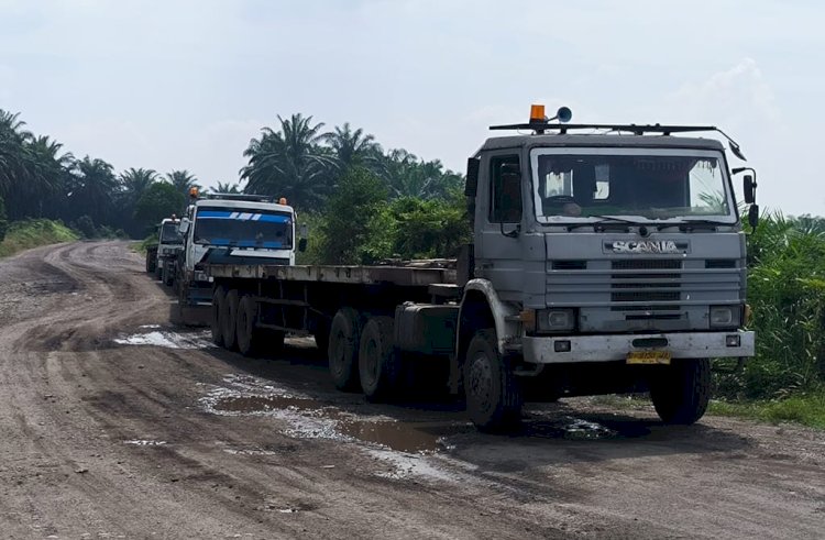
[[[373,317],[361,332],[359,374],[367,399],[386,399],[398,383],[398,354],[393,343],[393,318]]]

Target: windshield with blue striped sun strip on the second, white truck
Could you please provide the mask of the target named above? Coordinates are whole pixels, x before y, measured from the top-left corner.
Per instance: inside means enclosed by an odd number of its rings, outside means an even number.
[[[199,207],[194,241],[197,244],[288,250],[293,246],[293,217],[278,210]]]

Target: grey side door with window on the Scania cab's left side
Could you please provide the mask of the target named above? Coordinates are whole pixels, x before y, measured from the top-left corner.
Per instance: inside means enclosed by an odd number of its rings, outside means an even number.
[[[475,275],[490,279],[502,300],[520,300],[524,264],[521,162],[517,153],[482,158],[475,222]]]

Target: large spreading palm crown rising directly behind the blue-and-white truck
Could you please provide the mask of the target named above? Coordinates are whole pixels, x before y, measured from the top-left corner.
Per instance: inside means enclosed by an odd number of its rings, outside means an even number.
[[[249,165],[241,169],[248,180],[244,191],[288,197],[304,209],[318,208],[329,187],[336,159],[320,143],[322,123],[300,113],[289,119],[278,117],[280,130],[263,128],[261,139],[253,139],[243,153]]]

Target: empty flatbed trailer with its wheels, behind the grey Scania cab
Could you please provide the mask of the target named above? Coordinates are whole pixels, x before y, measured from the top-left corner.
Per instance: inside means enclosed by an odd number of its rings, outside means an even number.
[[[314,335],[340,389],[385,398],[397,389],[405,362],[449,361],[454,352],[462,294],[455,261],[204,268],[213,283],[217,344],[251,355],[279,348],[287,332]]]

